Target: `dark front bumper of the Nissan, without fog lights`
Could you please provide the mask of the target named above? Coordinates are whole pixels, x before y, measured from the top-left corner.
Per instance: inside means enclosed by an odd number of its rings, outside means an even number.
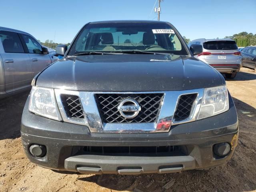
[[[86,126],[32,114],[27,102],[22,115],[22,145],[33,163],[86,174],[167,173],[218,166],[232,157],[238,140],[236,109],[231,97],[229,100],[230,110],[220,115],[172,126],[168,133],[138,134],[91,133]],[[213,153],[214,144],[220,142],[231,146],[230,153],[222,158]],[[32,156],[31,144],[46,146],[46,156]],[[80,154],[81,146],[184,146],[186,152],[170,156]]]

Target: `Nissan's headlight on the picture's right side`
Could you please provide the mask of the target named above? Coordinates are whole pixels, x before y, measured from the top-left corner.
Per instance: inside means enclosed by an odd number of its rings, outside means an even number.
[[[197,120],[223,113],[229,109],[226,85],[205,88]]]

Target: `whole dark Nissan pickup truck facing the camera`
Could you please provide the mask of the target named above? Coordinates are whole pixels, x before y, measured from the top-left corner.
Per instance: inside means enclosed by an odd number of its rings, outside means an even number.
[[[224,77],[194,58],[200,52],[168,22],[86,24],[32,81],[21,124],[26,156],[83,174],[224,164],[238,141],[236,108]]]

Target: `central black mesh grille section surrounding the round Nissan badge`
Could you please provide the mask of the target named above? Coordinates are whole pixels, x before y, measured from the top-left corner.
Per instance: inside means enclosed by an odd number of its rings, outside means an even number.
[[[95,94],[96,103],[104,123],[150,123],[155,122],[160,110],[162,93],[150,94]],[[132,98],[141,106],[139,114],[127,119],[118,112],[118,105],[124,99]]]

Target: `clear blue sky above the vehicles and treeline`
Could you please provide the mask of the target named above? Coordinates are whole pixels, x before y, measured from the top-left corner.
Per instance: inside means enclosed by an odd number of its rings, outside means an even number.
[[[87,22],[157,20],[156,0],[2,0],[0,26],[26,31],[36,39],[71,42]],[[256,0],[164,0],[160,20],[182,36],[224,38],[242,31],[256,33]]]

